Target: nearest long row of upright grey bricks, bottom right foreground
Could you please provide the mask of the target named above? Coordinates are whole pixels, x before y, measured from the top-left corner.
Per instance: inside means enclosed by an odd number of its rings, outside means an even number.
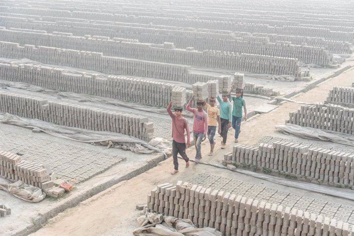
[[[147,197],[148,210],[190,219],[223,235],[354,235],[335,219],[178,181],[160,184]]]

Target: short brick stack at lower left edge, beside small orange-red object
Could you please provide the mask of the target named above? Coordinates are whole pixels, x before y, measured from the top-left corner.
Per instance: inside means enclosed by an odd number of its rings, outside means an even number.
[[[21,156],[0,150],[0,176],[3,178],[48,189],[54,183],[47,171],[43,164],[22,160]]]

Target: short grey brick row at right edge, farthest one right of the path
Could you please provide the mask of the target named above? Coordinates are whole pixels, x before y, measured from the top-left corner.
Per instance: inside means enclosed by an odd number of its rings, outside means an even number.
[[[329,91],[326,103],[338,104],[354,108],[354,88],[335,87]]]

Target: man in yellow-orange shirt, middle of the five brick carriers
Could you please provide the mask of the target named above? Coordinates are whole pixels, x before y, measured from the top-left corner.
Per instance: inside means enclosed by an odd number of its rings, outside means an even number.
[[[209,104],[204,102],[204,105],[206,107],[206,112],[208,114],[208,132],[207,136],[209,139],[210,143],[210,153],[209,156],[213,155],[214,151],[214,136],[215,133],[217,132],[217,124],[219,129],[218,129],[218,134],[221,133],[221,126],[220,126],[220,110],[215,106],[215,102],[217,102],[217,99],[214,97],[211,97],[209,99]]]

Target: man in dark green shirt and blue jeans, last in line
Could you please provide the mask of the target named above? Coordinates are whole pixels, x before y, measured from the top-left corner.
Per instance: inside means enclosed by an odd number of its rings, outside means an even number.
[[[233,90],[233,85],[231,91]],[[230,93],[231,93],[230,91]],[[243,99],[243,90],[236,89],[236,96],[230,96],[230,100],[233,101],[232,109],[232,128],[235,130],[235,143],[239,142],[239,135],[241,132],[242,121],[242,107],[245,111],[245,121],[247,120],[247,108],[245,99]]]

